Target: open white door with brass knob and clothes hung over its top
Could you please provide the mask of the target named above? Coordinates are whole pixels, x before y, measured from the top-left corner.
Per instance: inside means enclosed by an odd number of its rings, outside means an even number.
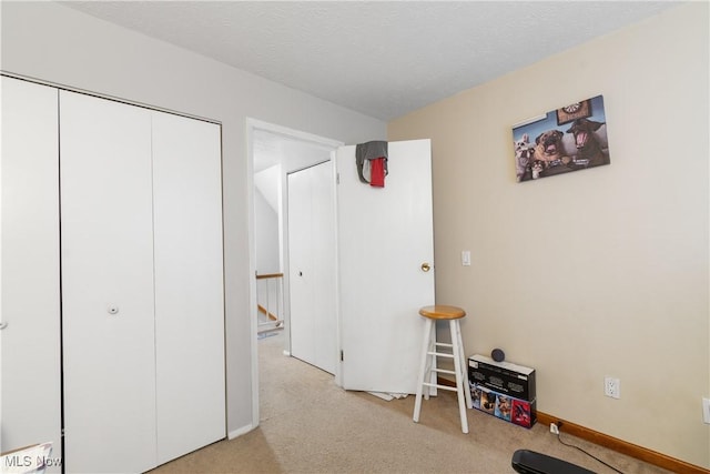
[[[358,180],[355,147],[337,151],[342,383],[416,393],[418,310],[434,304],[430,141],[390,142],[388,157],[381,189]]]

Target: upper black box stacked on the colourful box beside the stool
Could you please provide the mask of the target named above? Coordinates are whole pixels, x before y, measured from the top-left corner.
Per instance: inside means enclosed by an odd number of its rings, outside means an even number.
[[[468,357],[468,380],[514,399],[532,402],[535,394],[535,369],[510,362],[496,362],[485,355]]]

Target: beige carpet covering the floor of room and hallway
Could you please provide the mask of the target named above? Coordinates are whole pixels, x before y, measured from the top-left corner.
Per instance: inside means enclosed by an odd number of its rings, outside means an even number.
[[[258,341],[261,425],[232,441],[187,454],[153,473],[513,473],[510,458],[528,448],[597,473],[611,468],[565,446],[535,425],[527,430],[469,410],[463,434],[454,393],[423,402],[386,402],[337,387],[331,374],[283,355],[283,333]],[[668,471],[562,433],[562,440],[619,471]]]

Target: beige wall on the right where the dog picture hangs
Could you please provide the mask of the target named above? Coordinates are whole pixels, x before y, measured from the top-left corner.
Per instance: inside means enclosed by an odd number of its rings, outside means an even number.
[[[539,411],[703,467],[708,18],[681,6],[388,124],[433,140],[436,300],[468,310],[467,352],[536,367]],[[511,125],[597,94],[611,164],[516,183]]]

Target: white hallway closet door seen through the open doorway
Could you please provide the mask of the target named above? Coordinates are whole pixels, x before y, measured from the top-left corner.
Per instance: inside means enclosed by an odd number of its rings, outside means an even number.
[[[288,174],[291,355],[337,365],[333,162]]]

